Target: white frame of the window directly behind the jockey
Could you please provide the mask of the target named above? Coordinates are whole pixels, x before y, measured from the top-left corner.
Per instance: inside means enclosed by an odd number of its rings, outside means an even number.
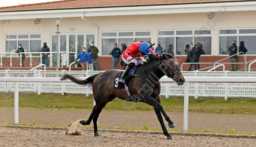
[[[116,32],[116,37],[103,37],[103,33],[114,33]],[[133,32],[133,36],[120,36],[119,32]],[[150,36],[136,36],[136,32],[150,32]],[[111,55],[102,55],[102,39],[117,39],[117,44],[119,44],[119,39],[121,38],[133,38],[133,41],[135,38],[150,38],[151,39],[151,30],[130,30],[130,31],[101,31],[101,56],[102,57],[112,57]]]

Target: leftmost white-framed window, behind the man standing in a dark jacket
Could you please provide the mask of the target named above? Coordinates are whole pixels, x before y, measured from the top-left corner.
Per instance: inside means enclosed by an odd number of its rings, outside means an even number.
[[[25,52],[40,52],[41,34],[6,34],[6,52],[16,51],[18,44],[22,44]],[[12,55],[17,56],[17,54]]]

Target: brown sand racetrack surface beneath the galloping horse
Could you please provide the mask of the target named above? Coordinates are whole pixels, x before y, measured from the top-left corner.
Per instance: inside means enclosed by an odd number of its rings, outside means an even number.
[[[87,119],[91,111],[20,109],[19,123],[68,125],[79,119]],[[114,111],[102,111],[98,128],[105,126],[115,115]],[[120,112],[119,126],[159,128],[154,112]],[[183,129],[183,113],[167,112],[177,129]],[[121,116],[121,115],[120,115]],[[13,109],[0,108],[0,123],[14,122]],[[189,113],[189,130],[216,131],[234,129],[239,132],[256,132],[256,115]],[[167,127],[167,122],[165,122]],[[92,126],[92,123],[90,124]],[[256,135],[228,135],[207,133],[169,132],[174,140],[167,140],[161,131],[102,130],[100,138],[93,137],[92,128],[80,128],[79,136],[65,135],[64,127],[36,127],[0,125],[0,146],[256,146]]]

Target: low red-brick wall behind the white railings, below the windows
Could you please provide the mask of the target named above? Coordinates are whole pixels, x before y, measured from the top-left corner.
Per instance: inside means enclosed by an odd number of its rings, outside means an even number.
[[[228,57],[228,56],[201,56],[200,59],[199,59],[199,62],[216,62],[216,61],[219,61],[219,60],[221,60],[223,58],[226,58],[226,57]],[[247,56],[247,61],[253,60],[255,58],[256,58],[256,56]],[[185,59],[186,59],[186,56],[183,56],[182,59],[179,61],[180,65],[182,63],[184,63]],[[116,63],[116,68],[115,69],[122,69],[122,67],[120,65],[121,60],[122,60],[122,58],[119,57],[119,60]],[[33,57],[32,58],[33,66],[37,66],[39,61],[40,61],[40,58]],[[48,65],[49,65],[49,61],[50,60],[48,58]],[[112,57],[99,57],[98,62],[99,62],[99,70],[101,70],[101,71],[111,70],[112,67],[113,67]],[[230,61],[229,61],[229,59],[226,59],[226,60],[223,60],[221,62],[230,62]],[[237,62],[244,62],[244,57],[243,56],[238,56]],[[10,58],[9,57],[2,58],[2,63],[3,63],[4,67],[9,67],[10,66]],[[12,67],[19,66],[19,63],[20,63],[20,58],[18,58],[18,57],[12,58]],[[248,68],[248,65],[249,64],[247,64],[247,68]],[[29,57],[25,58],[24,66],[30,66],[30,58]],[[207,64],[207,65],[206,64],[201,64],[200,69],[201,68],[206,68],[206,67],[209,67],[209,66],[212,66],[212,64]],[[183,71],[187,71],[188,68],[189,68],[189,65],[184,65],[183,66]],[[242,68],[244,68],[244,64],[238,64],[237,65],[237,70],[242,69]],[[253,64],[251,66],[251,68],[256,68],[256,64]],[[194,66],[192,66],[191,71],[193,71],[193,70],[194,70]],[[206,70],[208,70],[208,69],[206,69]],[[204,71],[206,71],[206,70],[204,70]],[[225,64],[225,70],[231,71],[230,64]],[[216,71],[222,71],[222,67],[217,68]]]

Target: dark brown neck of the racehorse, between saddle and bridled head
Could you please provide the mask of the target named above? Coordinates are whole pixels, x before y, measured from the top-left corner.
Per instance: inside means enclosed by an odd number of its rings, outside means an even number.
[[[154,62],[148,65],[142,65],[142,68],[151,79],[154,78],[158,81],[165,75],[164,72],[162,72],[162,70],[158,67],[159,65],[159,62]]]

